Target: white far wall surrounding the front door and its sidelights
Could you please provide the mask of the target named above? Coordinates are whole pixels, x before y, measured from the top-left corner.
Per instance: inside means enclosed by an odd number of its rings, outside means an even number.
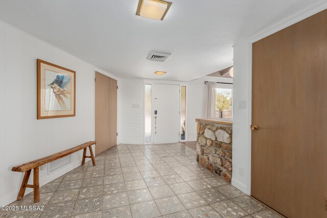
[[[144,143],[144,84],[177,84],[186,86],[186,139],[195,141],[196,118],[205,116],[205,84],[204,81],[232,83],[230,78],[202,77],[191,82],[162,80],[122,80],[121,88],[121,143]],[[132,105],[139,105],[133,108]]]

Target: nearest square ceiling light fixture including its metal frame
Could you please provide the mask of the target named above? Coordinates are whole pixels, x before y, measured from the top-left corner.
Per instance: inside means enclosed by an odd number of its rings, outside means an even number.
[[[136,15],[155,20],[163,20],[171,5],[171,2],[162,0],[139,0]]]

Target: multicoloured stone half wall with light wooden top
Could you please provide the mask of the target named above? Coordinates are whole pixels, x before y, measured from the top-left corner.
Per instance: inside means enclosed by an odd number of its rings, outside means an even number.
[[[211,119],[196,119],[196,160],[209,171],[231,181],[232,123]]]

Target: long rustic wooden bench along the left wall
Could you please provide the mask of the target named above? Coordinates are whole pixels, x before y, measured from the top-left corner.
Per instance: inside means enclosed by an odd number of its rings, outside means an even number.
[[[22,179],[21,186],[18,192],[17,196],[17,201],[21,200],[22,197],[24,197],[25,194],[25,189],[26,188],[33,188],[34,189],[34,202],[39,202],[40,201],[40,187],[39,187],[39,166],[52,162],[54,160],[57,160],[59,158],[62,158],[64,156],[67,156],[69,154],[73,154],[77,151],[80,151],[84,149],[83,151],[83,159],[82,159],[82,165],[85,164],[85,158],[91,158],[92,159],[92,164],[95,166],[96,165],[96,160],[94,158],[94,154],[92,151],[92,145],[96,144],[95,141],[89,141],[83,144],[80,144],[79,146],[76,146],[71,149],[67,149],[62,152],[58,152],[53,155],[49,155],[37,160],[30,161],[28,163],[20,164],[18,166],[12,167],[11,171],[14,172],[25,172],[24,178]],[[89,149],[90,151],[90,156],[86,156],[86,149]],[[31,171],[33,169],[33,185],[27,184],[31,175]]]

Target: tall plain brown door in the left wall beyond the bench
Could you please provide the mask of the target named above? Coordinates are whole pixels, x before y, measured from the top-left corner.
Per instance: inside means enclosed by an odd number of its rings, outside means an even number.
[[[116,145],[117,81],[96,72],[96,155]]]

